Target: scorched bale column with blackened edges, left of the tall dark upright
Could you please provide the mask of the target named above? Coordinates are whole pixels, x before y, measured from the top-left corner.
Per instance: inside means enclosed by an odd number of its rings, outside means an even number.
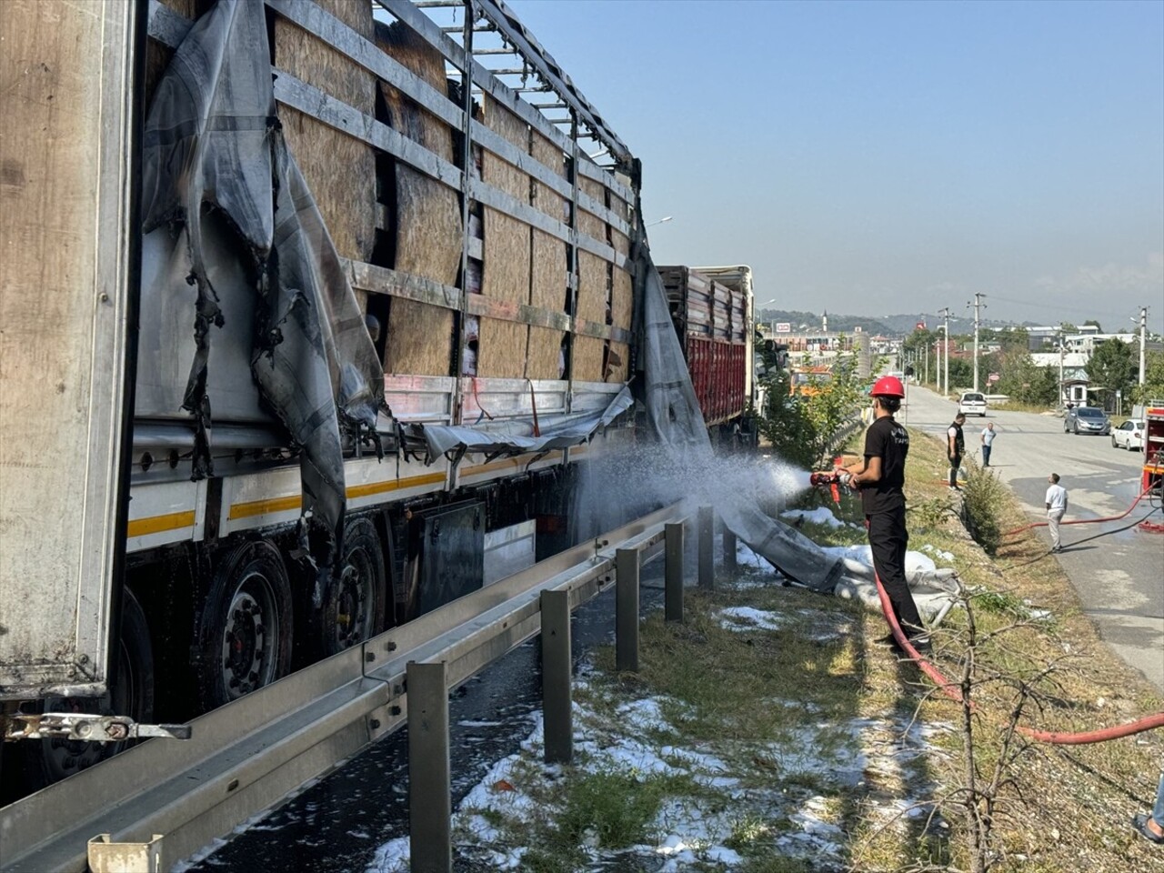
[[[445,92],[445,59],[410,28],[376,22],[376,44],[438,91]],[[400,91],[381,83],[388,122],[410,140],[455,163],[453,132]],[[456,283],[461,265],[461,205],[457,192],[407,164],[396,163],[393,267],[440,282]],[[440,306],[393,299],[388,318],[384,369],[393,374],[448,376],[454,313]]]

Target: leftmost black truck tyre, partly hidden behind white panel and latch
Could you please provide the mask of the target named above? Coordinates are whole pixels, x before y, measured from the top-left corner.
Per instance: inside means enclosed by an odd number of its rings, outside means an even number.
[[[135,722],[154,721],[154,646],[146,612],[127,588],[121,599],[121,634],[115,662],[111,665],[109,691],[101,697],[49,697],[43,712],[90,712],[129,716]],[[45,739],[26,741],[28,787],[38,790],[59,782],[134,745]]]

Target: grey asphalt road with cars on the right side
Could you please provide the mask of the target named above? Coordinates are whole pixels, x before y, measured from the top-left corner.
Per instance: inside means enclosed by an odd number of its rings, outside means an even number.
[[[944,434],[957,404],[918,385],[907,390],[899,419],[908,427]],[[1053,416],[992,409],[985,420],[968,418],[963,431],[978,462],[986,421],[994,421],[999,433],[991,469],[1012,488],[1031,520],[1046,517],[1043,499],[1051,473],[1058,473],[1059,484],[1067,489],[1064,520],[1117,516],[1140,492],[1142,453],[1112,448],[1108,436],[1064,433],[1063,419]],[[1063,527],[1063,551],[1043,560],[1059,561],[1102,639],[1164,691],[1164,534],[1135,526],[1150,509],[1141,502],[1122,521]],[[1151,520],[1164,521],[1159,510]],[[1050,546],[1046,528],[1037,530]]]

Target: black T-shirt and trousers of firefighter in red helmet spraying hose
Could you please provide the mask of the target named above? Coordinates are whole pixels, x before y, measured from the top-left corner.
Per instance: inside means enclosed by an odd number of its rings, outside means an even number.
[[[881,478],[861,488],[861,509],[870,532],[873,569],[889,596],[893,613],[907,637],[924,633],[917,604],[906,583],[906,455],[909,433],[893,416],[876,419],[865,433],[865,462],[881,459]]]

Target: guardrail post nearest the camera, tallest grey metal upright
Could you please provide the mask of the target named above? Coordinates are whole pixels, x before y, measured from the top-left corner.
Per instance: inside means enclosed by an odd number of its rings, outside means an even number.
[[[445,662],[409,665],[409,844],[412,873],[452,873]]]

